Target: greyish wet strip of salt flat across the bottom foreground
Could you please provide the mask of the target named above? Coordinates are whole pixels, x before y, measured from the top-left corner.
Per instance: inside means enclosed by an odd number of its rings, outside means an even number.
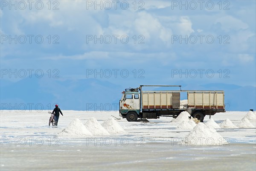
[[[253,150],[253,144],[195,148],[167,142],[149,142],[144,146],[134,146],[134,142],[109,146],[100,146],[99,142],[58,147],[3,146],[0,170],[253,170]],[[52,165],[52,158],[58,165]]]

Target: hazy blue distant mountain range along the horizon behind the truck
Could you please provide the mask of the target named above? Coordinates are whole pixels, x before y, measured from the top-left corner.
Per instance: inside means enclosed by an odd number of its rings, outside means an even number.
[[[189,85],[185,82],[173,84],[182,85],[182,90],[224,90],[226,110],[256,110],[256,87],[253,86],[217,83]],[[121,92],[130,86],[96,78],[73,80],[27,77],[17,82],[1,79],[0,87],[1,110],[41,110],[42,107],[44,110],[52,110],[58,103],[62,110],[109,111],[118,110]],[[186,99],[186,93],[181,94],[182,99]]]

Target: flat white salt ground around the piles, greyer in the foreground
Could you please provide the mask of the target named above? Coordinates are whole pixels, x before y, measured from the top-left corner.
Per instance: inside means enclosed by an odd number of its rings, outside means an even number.
[[[119,117],[118,112],[76,111],[75,115],[74,111],[64,112],[64,116],[60,117],[58,128],[49,128],[49,116],[45,113],[37,113],[37,119],[31,117],[34,114],[29,113],[1,113],[1,140],[9,141],[9,138],[12,138],[12,145],[9,146],[6,142],[0,148],[0,170],[191,170],[191,166],[195,170],[206,168],[207,170],[255,170],[256,136],[253,122],[254,128],[217,130],[222,137],[230,139],[227,146],[204,145],[196,146],[197,149],[192,149],[195,148],[192,146],[180,146],[178,142],[185,138],[189,131],[176,130],[179,123],[170,122],[172,118],[167,117],[149,119],[150,122],[147,124],[127,122],[125,119],[118,120],[118,124],[127,132],[125,135],[50,139],[66,128],[74,116],[83,123],[90,117],[95,117],[101,123],[111,115]],[[238,124],[246,113],[217,113],[214,119],[220,123],[228,118],[234,124]],[[208,118],[206,116],[206,120]],[[38,137],[37,134],[41,135]],[[141,137],[144,138],[142,142],[144,146],[139,146]],[[33,138],[32,145],[15,146],[15,143],[17,144],[15,138]],[[39,138],[38,145],[42,138],[44,145],[36,146],[35,138]],[[121,145],[119,141],[115,146],[113,141],[112,145],[106,146],[108,139],[105,139],[105,142],[103,141],[105,145],[100,146],[97,141],[94,146],[94,138],[122,139],[123,144]],[[50,145],[49,140],[51,140]],[[127,146],[125,146],[126,140],[129,141]],[[58,165],[51,164],[52,157],[56,159]]]

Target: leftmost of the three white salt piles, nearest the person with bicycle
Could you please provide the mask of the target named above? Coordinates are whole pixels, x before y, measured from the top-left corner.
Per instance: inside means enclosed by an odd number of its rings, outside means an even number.
[[[84,126],[84,124],[79,119],[74,119],[70,122],[58,136],[70,136],[70,137],[80,137],[80,136],[93,136],[89,130]]]

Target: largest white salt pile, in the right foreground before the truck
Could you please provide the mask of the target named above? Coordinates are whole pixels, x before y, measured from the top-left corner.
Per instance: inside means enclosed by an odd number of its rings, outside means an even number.
[[[208,128],[204,123],[198,123],[195,128],[190,131],[189,135],[183,139],[182,143],[188,145],[222,145],[227,141],[213,128]]]

